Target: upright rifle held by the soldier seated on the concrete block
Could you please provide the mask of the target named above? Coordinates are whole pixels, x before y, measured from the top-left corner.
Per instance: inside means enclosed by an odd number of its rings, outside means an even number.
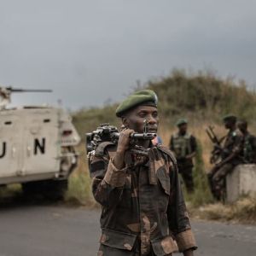
[[[213,149],[212,149],[211,158],[210,158],[211,164],[216,163],[220,158],[220,156],[223,154],[224,148],[222,148],[221,143],[225,138],[225,137],[222,137],[221,139],[218,139],[213,129],[214,128],[211,125],[209,125],[206,129],[207,135],[210,138],[211,142],[213,143]]]

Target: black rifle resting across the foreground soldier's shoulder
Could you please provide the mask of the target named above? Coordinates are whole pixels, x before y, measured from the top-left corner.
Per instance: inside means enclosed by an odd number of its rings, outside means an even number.
[[[144,120],[143,133],[131,133],[131,152],[140,155],[148,155],[148,149],[137,145],[139,140],[152,140],[156,137],[156,133],[148,132],[148,120]],[[117,127],[109,124],[100,125],[96,131],[86,133],[86,149],[90,155],[96,147],[103,142],[111,142],[117,144],[119,141],[119,131]]]

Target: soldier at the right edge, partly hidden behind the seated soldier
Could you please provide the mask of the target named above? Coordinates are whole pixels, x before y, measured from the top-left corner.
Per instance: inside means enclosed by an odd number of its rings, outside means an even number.
[[[256,163],[256,138],[247,130],[247,121],[239,120],[237,123],[238,129],[244,137],[243,143],[243,159],[244,162]]]

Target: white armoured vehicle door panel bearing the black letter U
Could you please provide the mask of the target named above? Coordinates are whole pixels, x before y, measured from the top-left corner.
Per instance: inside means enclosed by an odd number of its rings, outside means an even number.
[[[20,170],[22,155],[20,144],[22,129],[20,119],[11,110],[0,113],[0,182],[16,176]]]

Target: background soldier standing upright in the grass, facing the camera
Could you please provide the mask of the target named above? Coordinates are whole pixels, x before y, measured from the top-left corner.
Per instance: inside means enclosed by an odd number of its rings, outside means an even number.
[[[196,154],[197,144],[195,137],[188,133],[187,119],[179,119],[177,128],[177,133],[171,137],[170,149],[175,154],[178,171],[183,177],[186,189],[189,192],[193,192],[193,158]]]

